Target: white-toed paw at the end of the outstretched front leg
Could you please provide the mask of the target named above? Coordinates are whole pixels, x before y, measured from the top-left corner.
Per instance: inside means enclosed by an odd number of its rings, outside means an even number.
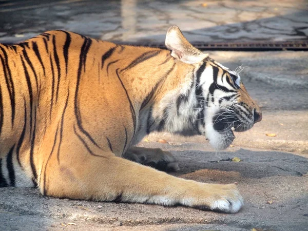
[[[237,213],[243,206],[243,198],[235,184],[204,184],[205,190],[197,190],[197,200],[192,200],[191,207],[210,209],[224,213]],[[203,198],[202,198],[203,197]]]

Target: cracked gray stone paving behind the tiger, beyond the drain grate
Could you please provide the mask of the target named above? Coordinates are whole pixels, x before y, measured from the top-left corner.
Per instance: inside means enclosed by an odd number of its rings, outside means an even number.
[[[305,0],[2,0],[0,42],[53,29],[102,40],[163,42],[172,24],[191,42],[304,40],[307,9]]]

